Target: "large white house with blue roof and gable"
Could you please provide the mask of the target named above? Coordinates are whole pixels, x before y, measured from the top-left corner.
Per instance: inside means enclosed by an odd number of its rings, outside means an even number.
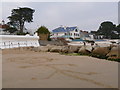
[[[50,38],[57,38],[57,37],[70,38],[70,39],[80,38],[80,30],[76,26],[75,27],[60,26],[52,30]]]

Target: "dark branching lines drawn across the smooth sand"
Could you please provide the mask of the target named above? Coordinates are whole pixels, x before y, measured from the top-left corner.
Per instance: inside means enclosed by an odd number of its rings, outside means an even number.
[[[62,70],[62,69],[59,69],[58,67],[56,66],[59,66],[61,65],[64,65],[64,66],[76,66],[75,64],[46,64],[46,62],[52,62],[56,59],[53,59],[53,58],[46,58],[46,57],[40,57],[40,58],[43,58],[44,60],[42,62],[38,62],[37,60],[34,61],[34,60],[27,60],[27,61],[24,61],[24,60],[13,60],[13,59],[9,59],[9,61],[11,62],[19,62],[19,63],[29,63],[31,64],[30,66],[20,66],[20,68],[30,68],[30,67],[37,67],[37,66],[44,66],[44,67],[49,67],[49,68],[52,68],[54,70],[54,72],[52,72],[51,74],[49,74],[46,78],[42,78],[42,79],[50,79],[52,78],[56,73],[60,73],[62,75],[65,75],[65,76],[68,76],[68,77],[71,77],[71,78],[75,78],[75,79],[79,79],[79,80],[83,80],[83,81],[87,81],[87,82],[91,82],[95,85],[98,85],[98,86],[103,86],[103,87],[107,87],[107,88],[112,88],[112,86],[110,85],[105,85],[103,83],[100,83],[100,82],[97,82],[97,81],[94,81],[92,79],[89,79],[89,78],[84,78],[84,77],[80,77],[80,75],[78,74],[83,74],[83,75],[94,75],[94,74],[98,74],[96,72],[88,72],[88,73],[84,73],[84,72],[76,72],[76,71],[72,71],[72,70]],[[41,64],[40,64],[41,63]],[[44,63],[44,64],[42,64]],[[32,78],[31,80],[36,80],[36,78]]]

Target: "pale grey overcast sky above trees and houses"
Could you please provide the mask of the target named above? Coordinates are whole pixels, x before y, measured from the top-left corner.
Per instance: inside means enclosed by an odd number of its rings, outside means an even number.
[[[2,19],[8,22],[11,10],[18,7],[35,10],[33,22],[25,24],[33,31],[41,25],[49,30],[64,25],[91,31],[97,30],[103,21],[118,24],[117,2],[2,2]]]

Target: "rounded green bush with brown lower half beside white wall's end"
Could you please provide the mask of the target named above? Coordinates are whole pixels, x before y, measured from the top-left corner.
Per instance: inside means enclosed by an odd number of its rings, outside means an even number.
[[[40,37],[40,40],[50,40],[50,32],[45,26],[41,26],[36,31]]]

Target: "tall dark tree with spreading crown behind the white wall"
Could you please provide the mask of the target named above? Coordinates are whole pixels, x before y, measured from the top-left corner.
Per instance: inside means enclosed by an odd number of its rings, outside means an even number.
[[[19,7],[18,9],[13,9],[11,16],[8,17],[10,22],[8,24],[12,25],[13,27],[17,28],[20,33],[23,33],[23,28],[25,22],[33,22],[33,13],[35,10],[31,8],[21,8]]]

